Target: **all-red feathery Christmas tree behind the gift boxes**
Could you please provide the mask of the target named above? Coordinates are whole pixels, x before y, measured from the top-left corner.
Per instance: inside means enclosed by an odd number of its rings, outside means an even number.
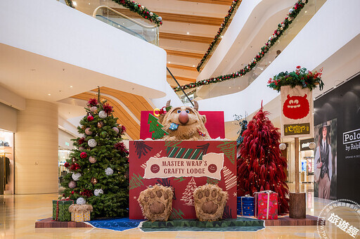
[[[238,159],[238,197],[241,195],[272,190],[278,193],[278,212],[289,211],[288,185],[285,183],[287,162],[281,156],[281,134],[262,108],[243,133],[243,144]]]

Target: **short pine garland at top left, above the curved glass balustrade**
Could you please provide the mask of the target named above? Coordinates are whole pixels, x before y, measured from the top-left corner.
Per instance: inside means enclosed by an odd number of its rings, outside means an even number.
[[[158,27],[162,25],[162,18],[150,11],[145,6],[137,3],[136,1],[129,1],[129,0],[113,0],[115,3],[124,6],[125,8],[129,8],[130,11],[134,13],[138,13],[141,17],[150,20],[150,22],[154,22]]]

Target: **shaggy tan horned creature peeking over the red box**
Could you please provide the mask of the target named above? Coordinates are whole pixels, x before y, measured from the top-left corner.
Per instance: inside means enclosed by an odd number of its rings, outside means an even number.
[[[170,106],[167,101],[166,107]],[[194,101],[194,108],[180,106],[171,108],[165,115],[160,115],[159,122],[169,133],[163,136],[166,141],[176,140],[207,140],[211,139],[205,128],[206,116],[198,112],[198,102]]]

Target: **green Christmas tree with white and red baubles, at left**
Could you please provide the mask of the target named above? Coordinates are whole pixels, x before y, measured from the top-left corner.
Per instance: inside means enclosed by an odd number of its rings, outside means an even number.
[[[124,217],[129,208],[129,152],[122,143],[124,127],[112,115],[113,107],[95,98],[88,102],[75,150],[65,162],[69,173],[63,196],[94,207],[91,217]]]

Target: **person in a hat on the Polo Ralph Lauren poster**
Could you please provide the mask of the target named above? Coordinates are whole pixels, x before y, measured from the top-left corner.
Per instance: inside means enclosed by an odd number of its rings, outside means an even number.
[[[315,154],[315,168],[320,169],[319,198],[330,199],[330,184],[333,174],[333,155],[330,146],[330,124],[326,122],[319,129],[319,143]]]

